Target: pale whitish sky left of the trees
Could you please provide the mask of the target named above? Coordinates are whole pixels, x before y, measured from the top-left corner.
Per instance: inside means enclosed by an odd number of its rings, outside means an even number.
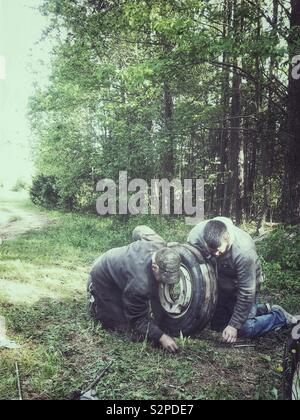
[[[33,82],[47,81],[51,50],[49,41],[39,42],[47,27],[40,3],[0,0],[0,181],[10,184],[33,173],[27,103]]]

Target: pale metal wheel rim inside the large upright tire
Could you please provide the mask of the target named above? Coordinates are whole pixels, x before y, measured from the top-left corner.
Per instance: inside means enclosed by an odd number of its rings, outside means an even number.
[[[193,282],[189,270],[181,265],[179,283],[160,284],[159,299],[162,307],[173,318],[180,318],[188,311],[192,301]]]

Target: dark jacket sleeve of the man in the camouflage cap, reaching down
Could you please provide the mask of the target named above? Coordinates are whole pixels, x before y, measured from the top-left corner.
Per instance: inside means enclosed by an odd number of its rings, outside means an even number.
[[[124,312],[130,326],[149,341],[158,342],[164,332],[151,319],[149,296],[125,290],[123,293]]]

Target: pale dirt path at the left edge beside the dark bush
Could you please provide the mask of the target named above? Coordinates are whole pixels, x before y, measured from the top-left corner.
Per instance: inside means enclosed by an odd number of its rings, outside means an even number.
[[[27,194],[0,190],[0,244],[50,223],[45,214],[30,208]]]

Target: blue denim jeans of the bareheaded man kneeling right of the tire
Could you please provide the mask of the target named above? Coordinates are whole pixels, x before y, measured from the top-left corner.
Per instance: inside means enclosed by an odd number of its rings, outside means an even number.
[[[211,323],[211,328],[214,331],[222,332],[229,325],[235,305],[235,296],[220,293],[217,309]],[[287,325],[286,319],[280,311],[274,310],[267,315],[257,316],[258,307],[259,297],[257,297],[256,303],[252,306],[248,320],[239,330],[239,337],[258,338]]]

